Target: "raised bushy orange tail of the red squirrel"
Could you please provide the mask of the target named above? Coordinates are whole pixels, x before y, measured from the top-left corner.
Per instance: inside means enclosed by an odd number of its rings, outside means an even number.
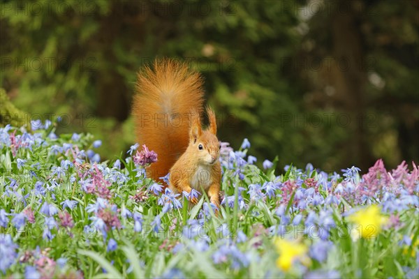
[[[147,175],[159,180],[189,144],[191,112],[203,113],[203,81],[184,63],[156,60],[153,68],[140,70],[135,91],[136,137],[157,153]]]

